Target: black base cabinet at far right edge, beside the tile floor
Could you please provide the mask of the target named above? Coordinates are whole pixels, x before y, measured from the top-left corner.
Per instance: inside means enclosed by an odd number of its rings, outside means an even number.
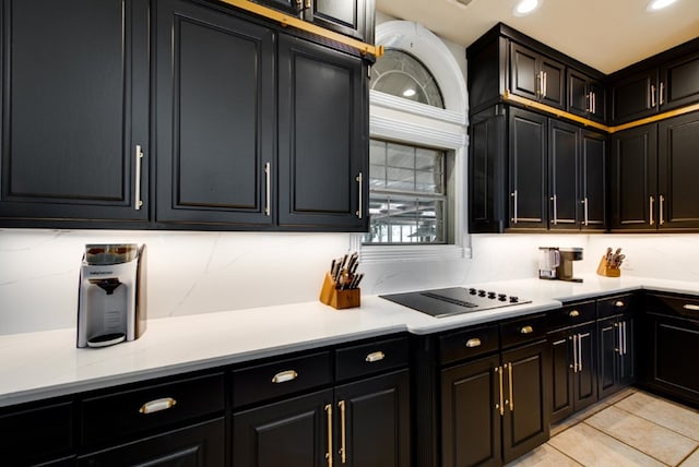
[[[644,301],[645,351],[643,383],[683,402],[699,404],[699,373],[691,369],[690,349],[699,348],[697,297],[649,294]]]

